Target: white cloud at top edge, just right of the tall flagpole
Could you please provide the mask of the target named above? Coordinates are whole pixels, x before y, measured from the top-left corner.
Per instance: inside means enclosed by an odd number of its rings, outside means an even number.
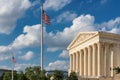
[[[44,3],[44,8],[57,11],[69,4],[71,1],[72,0],[46,0]]]

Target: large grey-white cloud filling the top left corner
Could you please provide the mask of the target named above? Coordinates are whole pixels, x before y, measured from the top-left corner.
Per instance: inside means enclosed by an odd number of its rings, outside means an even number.
[[[0,33],[9,34],[16,21],[31,6],[29,0],[0,0]]]

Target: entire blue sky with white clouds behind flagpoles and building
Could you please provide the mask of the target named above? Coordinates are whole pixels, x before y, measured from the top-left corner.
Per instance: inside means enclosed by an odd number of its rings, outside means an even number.
[[[120,34],[120,0],[45,0],[44,69],[68,70],[67,46],[82,31]],[[0,68],[40,65],[40,0],[0,0]]]

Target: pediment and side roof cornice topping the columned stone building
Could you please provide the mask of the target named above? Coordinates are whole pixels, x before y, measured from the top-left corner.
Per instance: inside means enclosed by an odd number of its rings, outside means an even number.
[[[113,34],[113,33],[102,32],[102,31],[80,32],[73,39],[70,45],[67,47],[67,50],[77,47],[78,45],[81,45],[85,43],[86,41],[89,41],[90,39],[95,38],[96,36],[99,36],[99,39],[110,39],[110,40],[120,41],[119,34]]]

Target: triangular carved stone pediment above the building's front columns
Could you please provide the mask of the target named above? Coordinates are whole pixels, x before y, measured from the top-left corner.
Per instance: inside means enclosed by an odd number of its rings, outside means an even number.
[[[77,45],[79,45],[80,43],[83,43],[84,41],[94,37],[96,34],[98,34],[98,32],[80,32],[74,39],[73,41],[70,43],[70,45],[68,46],[68,50],[72,47],[75,47]]]

